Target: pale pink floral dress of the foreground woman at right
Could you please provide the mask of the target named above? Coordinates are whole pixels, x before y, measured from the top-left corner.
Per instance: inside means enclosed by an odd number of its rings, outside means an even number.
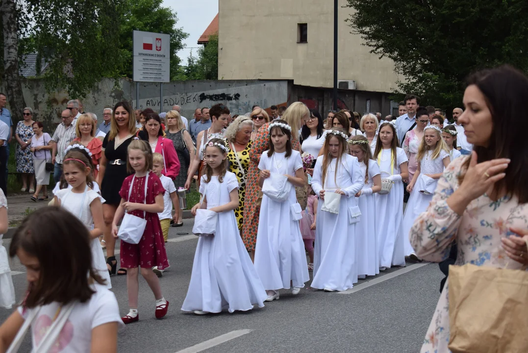
[[[447,198],[459,187],[458,176],[466,158],[452,161],[440,177],[435,195],[426,212],[418,216],[409,233],[416,254],[423,260],[447,259],[453,241],[457,242],[456,265],[466,263],[495,268],[520,269],[521,264],[507,257],[501,238],[513,235],[510,227],[528,227],[528,204],[518,204],[507,196],[493,201],[486,194],[473,200],[462,216],[447,205]],[[429,325],[422,353],[449,352],[449,278],[440,295]]]

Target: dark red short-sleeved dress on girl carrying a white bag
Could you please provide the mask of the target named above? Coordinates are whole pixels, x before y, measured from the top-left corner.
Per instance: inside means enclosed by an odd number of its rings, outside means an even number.
[[[119,195],[121,198],[129,202],[145,203],[145,179],[146,177],[135,178],[134,186],[130,199],[128,199],[128,190],[132,182],[133,175],[128,176]],[[162,186],[161,180],[154,173],[148,174],[147,184],[147,202],[152,205],[155,203],[155,198],[159,194],[164,194],[165,189]],[[143,211],[132,211],[131,214],[143,218]],[[143,237],[139,244],[130,244],[121,240],[121,268],[132,269],[138,266],[142,268],[151,268],[158,266],[163,270],[168,267],[167,253],[165,252],[165,242],[163,240],[162,227],[159,224],[157,213],[146,213],[147,225]]]

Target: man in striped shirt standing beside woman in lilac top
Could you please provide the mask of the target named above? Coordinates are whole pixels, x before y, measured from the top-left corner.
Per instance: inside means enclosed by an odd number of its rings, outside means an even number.
[[[70,109],[65,109],[61,113],[62,123],[55,129],[55,133],[51,140],[53,143],[53,149],[51,154],[51,163],[55,165],[53,170],[53,180],[58,183],[61,180],[62,175],[62,160],[64,159],[64,150],[70,142],[76,138],[75,126],[77,118],[73,117]]]

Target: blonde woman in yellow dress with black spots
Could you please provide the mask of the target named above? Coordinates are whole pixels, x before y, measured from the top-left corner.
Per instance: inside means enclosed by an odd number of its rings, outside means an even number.
[[[251,150],[251,131],[253,121],[242,115],[237,117],[225,131],[225,144],[228,146],[229,171],[238,180],[238,207],[234,210],[239,231],[244,224],[244,201],[246,199],[246,180]]]

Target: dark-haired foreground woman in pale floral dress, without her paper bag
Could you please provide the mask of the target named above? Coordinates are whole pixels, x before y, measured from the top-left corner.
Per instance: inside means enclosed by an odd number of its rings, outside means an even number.
[[[411,228],[411,244],[422,259],[445,260],[456,242],[457,265],[520,269],[527,261],[526,245],[509,239],[528,233],[523,231],[528,228],[526,99],[528,78],[510,66],[469,78],[466,110],[458,122],[475,149],[446,168],[427,211]],[[423,353],[449,352],[448,287],[449,279],[423,342]]]

